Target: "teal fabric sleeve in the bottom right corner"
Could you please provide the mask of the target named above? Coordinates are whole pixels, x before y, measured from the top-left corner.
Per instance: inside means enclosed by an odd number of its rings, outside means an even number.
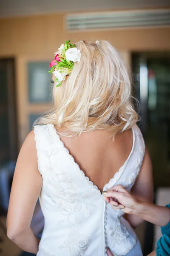
[[[166,205],[170,208],[170,204]],[[157,241],[156,256],[170,256],[170,222],[161,227],[162,237]]]

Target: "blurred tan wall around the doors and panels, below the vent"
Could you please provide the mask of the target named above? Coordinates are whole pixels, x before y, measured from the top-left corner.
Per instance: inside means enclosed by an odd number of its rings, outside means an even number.
[[[64,40],[105,39],[121,50],[130,64],[131,51],[170,50],[170,27],[140,28],[69,33],[64,28],[64,15],[44,15],[0,20],[0,58],[16,59],[17,111],[19,140],[28,133],[28,114],[39,113],[50,105],[30,105],[27,100],[26,63],[30,60],[51,60]]]

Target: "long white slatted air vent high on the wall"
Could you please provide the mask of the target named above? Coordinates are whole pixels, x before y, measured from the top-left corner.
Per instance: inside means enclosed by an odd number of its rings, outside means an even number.
[[[167,25],[170,25],[170,9],[90,12],[66,16],[66,28],[70,31]]]

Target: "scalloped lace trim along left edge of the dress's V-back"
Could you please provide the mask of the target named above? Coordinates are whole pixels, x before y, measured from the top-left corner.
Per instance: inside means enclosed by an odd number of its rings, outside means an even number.
[[[59,140],[59,143],[62,145],[62,148],[64,148],[65,152],[68,154],[71,162],[75,164],[77,172],[79,172],[79,174],[82,176],[82,178],[86,181],[86,183],[88,183],[91,186],[92,189],[96,190],[96,192],[101,194],[98,187],[96,185],[94,185],[94,183],[89,179],[89,177],[85,176],[85,173],[80,169],[78,163],[75,162],[74,157],[69,153],[68,149],[65,147],[64,143],[61,141],[54,125],[53,124],[48,124],[48,125],[50,125],[53,128],[53,130],[55,131],[55,134],[57,136],[57,139]]]

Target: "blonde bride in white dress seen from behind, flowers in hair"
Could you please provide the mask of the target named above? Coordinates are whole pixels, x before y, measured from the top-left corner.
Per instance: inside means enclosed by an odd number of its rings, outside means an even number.
[[[51,73],[54,108],[20,150],[7,235],[37,256],[106,256],[107,247],[114,256],[142,256],[133,230],[142,219],[103,199],[117,184],[143,201],[153,197],[125,63],[107,41],[65,41]],[[40,241],[30,228],[38,198],[45,218]]]

